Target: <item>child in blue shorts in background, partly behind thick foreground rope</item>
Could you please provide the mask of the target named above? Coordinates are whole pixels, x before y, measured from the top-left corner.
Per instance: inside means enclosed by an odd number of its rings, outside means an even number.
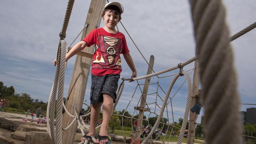
[[[193,121],[194,120],[194,112],[196,112],[196,115],[195,115],[195,124],[197,124],[197,117],[198,117],[198,114],[200,114],[200,110],[201,110],[201,107],[202,107],[202,95],[201,95],[201,92],[202,90],[199,89],[197,91],[197,94],[195,96],[192,96],[192,98],[196,98],[196,103],[195,105],[190,109],[190,118],[189,118],[189,121]]]

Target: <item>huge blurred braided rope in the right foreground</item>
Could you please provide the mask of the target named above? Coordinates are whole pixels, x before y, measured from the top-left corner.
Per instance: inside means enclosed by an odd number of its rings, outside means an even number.
[[[205,106],[206,143],[241,144],[239,96],[225,8],[221,0],[190,3]]]

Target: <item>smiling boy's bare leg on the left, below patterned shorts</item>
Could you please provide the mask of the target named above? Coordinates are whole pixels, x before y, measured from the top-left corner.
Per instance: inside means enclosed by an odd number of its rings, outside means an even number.
[[[94,103],[91,107],[90,130],[89,130],[89,133],[87,134],[89,136],[93,136],[96,134],[95,127],[96,127],[96,123],[100,116],[101,105],[102,105],[102,103]]]

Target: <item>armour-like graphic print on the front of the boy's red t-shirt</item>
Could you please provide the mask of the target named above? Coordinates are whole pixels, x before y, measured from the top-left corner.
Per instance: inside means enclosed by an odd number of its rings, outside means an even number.
[[[93,63],[98,63],[95,65],[92,63],[92,68],[117,68],[121,69],[121,43],[122,40],[115,37],[108,37],[104,35],[98,36],[99,44],[95,44],[96,57],[93,60]]]

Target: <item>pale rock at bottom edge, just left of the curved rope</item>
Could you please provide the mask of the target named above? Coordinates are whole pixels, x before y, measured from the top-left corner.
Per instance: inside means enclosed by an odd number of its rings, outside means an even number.
[[[30,131],[26,135],[25,144],[51,144],[52,140],[47,132]]]

